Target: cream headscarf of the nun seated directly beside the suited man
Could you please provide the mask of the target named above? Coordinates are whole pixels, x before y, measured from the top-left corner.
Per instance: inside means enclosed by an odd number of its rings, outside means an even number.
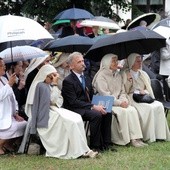
[[[105,56],[103,56],[102,60],[101,60],[101,63],[100,63],[100,69],[99,71],[95,74],[94,78],[93,78],[93,81],[92,81],[92,84],[94,84],[96,82],[96,78],[98,76],[98,74],[103,70],[109,70],[110,72],[113,72],[111,69],[110,69],[110,65],[112,63],[112,58],[118,58],[117,55],[115,54],[106,54]]]

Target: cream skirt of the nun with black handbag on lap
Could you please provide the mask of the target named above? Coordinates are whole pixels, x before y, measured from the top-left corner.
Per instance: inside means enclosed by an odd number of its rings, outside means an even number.
[[[143,133],[143,140],[155,142],[156,139],[170,141],[170,132],[165,117],[164,107],[161,102],[136,103],[133,106],[137,109]]]

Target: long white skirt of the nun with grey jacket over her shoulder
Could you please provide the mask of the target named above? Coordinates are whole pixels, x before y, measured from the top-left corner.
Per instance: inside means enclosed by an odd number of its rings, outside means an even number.
[[[89,151],[79,114],[51,106],[48,128],[37,128],[46,156],[75,159]]]

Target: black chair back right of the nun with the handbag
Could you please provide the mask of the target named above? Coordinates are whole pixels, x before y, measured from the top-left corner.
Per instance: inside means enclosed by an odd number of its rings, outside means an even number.
[[[151,79],[151,87],[155,96],[155,99],[158,101],[164,101],[163,87],[158,79]]]

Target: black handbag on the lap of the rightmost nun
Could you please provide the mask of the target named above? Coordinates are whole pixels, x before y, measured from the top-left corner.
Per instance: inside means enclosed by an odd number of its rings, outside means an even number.
[[[153,103],[154,99],[149,94],[133,93],[133,100],[137,103]]]

